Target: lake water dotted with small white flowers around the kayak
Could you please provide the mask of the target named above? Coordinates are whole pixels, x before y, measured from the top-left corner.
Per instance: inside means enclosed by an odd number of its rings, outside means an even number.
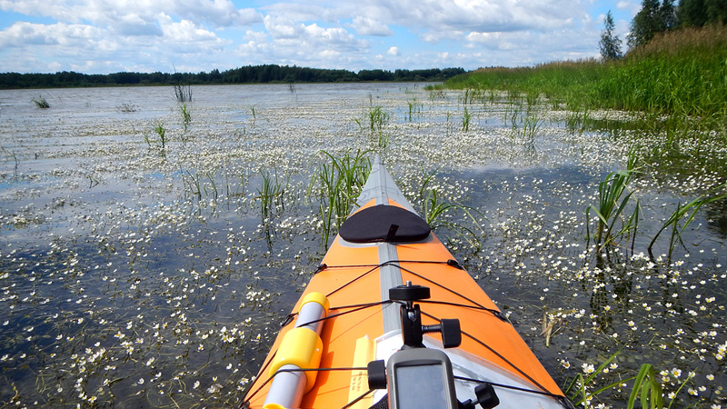
[[[671,258],[671,230],[647,252],[677,205],[723,178],[642,164],[623,212],[639,200],[635,236],[603,252],[587,240],[599,183],[658,135],[415,84],[192,92],[182,104],[171,87],[0,91],[3,404],[239,404],[327,245],[321,151],[372,150],[415,207],[435,189],[482,214],[446,216],[474,236],[437,234],[563,389],[620,351],[589,391],[653,364],[672,407],[727,407],[725,201],[702,206]],[[623,407],[631,384],[589,405]]]

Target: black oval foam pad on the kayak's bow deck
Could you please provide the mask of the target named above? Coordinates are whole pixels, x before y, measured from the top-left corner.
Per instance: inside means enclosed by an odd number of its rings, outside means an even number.
[[[352,215],[338,232],[351,243],[421,242],[432,229],[417,214],[390,205],[375,205]]]

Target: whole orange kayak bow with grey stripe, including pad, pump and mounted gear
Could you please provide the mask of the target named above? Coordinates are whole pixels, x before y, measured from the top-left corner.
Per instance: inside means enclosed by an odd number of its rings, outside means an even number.
[[[378,156],[356,205],[242,407],[573,407]]]

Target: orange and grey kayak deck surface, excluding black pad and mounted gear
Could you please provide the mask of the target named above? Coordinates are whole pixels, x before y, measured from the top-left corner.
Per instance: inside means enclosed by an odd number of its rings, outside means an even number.
[[[294,318],[309,294],[324,294],[330,303],[320,321],[317,377],[299,407],[368,408],[383,397],[385,390],[369,391],[366,364],[387,360],[402,347],[400,303],[389,299],[389,289],[407,282],[430,288],[431,297],[418,302],[423,324],[459,319],[460,346],[444,349],[440,334],[424,335],[423,341],[449,356],[455,378],[468,379],[455,379],[459,401],[476,402],[474,386],[486,381],[495,386],[500,408],[571,407],[513,325],[428,226],[421,219],[423,225],[406,223],[412,206],[378,157],[357,205],[291,314]],[[271,384],[268,367],[294,328],[294,319],[288,321],[244,407],[264,407]]]

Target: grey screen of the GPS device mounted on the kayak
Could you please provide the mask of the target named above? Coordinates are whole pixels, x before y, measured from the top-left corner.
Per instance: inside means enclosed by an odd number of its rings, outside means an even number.
[[[395,371],[399,409],[448,407],[441,364],[397,366]]]

